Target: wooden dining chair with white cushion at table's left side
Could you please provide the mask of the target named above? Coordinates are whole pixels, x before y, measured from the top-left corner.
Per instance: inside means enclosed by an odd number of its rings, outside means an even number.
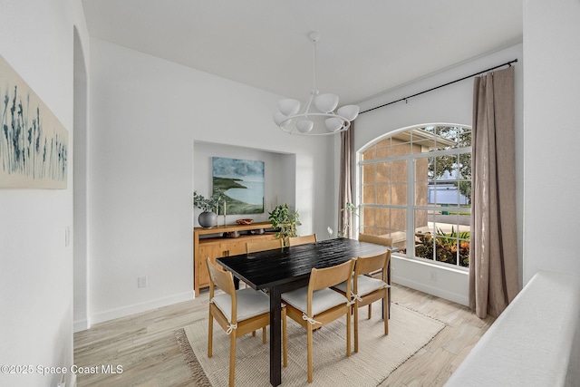
[[[266,343],[266,326],[270,324],[270,297],[252,288],[236,290],[231,272],[206,260],[209,272],[209,326],[208,357],[212,356],[214,319],[229,335],[229,386],[234,386],[236,371],[236,339],[262,328],[262,341]],[[224,293],[216,295],[216,286]],[[286,309],[282,305],[283,364],[288,364]]]

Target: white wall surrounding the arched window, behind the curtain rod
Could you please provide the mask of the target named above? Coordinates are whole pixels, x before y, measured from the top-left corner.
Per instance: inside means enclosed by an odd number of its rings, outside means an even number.
[[[522,273],[522,198],[523,198],[523,61],[522,44],[490,53],[467,63],[459,64],[440,73],[432,74],[411,82],[401,88],[386,92],[361,103],[361,111],[384,103],[397,101],[414,93],[428,90],[447,82],[463,78],[472,73],[486,70],[501,63],[517,59],[516,66],[516,173],[517,173],[517,218],[519,247],[519,278]],[[471,125],[473,79],[457,82],[413,97],[405,102],[368,111],[359,115],[355,123],[354,149],[362,150],[376,138],[411,125],[430,122],[449,122]],[[393,256],[393,281],[401,285],[438,295],[459,304],[469,304],[469,276],[459,270],[443,269],[440,266],[420,263],[417,260]],[[520,281],[521,282],[521,281]]]

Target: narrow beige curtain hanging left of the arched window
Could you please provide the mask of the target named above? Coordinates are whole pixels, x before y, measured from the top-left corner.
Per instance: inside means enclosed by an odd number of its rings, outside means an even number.
[[[354,161],[354,122],[348,131],[341,132],[341,170],[338,191],[338,232],[342,232],[345,223],[350,225],[343,237],[353,237],[353,217],[343,211],[346,203],[353,203],[353,161]]]

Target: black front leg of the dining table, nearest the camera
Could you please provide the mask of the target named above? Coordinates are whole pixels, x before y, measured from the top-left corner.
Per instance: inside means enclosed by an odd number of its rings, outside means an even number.
[[[270,384],[282,383],[282,294],[280,289],[270,289]]]

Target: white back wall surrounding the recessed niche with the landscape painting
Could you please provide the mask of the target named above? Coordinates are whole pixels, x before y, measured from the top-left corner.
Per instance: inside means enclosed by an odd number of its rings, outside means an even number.
[[[285,198],[300,212],[300,232],[325,232],[333,219],[334,180],[326,172],[333,140],[277,129],[272,112],[281,96],[91,43],[90,324],[193,296],[191,197],[194,189],[208,195],[210,179],[192,165],[194,142],[235,146],[236,155],[292,154],[291,173],[278,177],[289,181]],[[149,276],[149,287],[137,287],[139,276]]]

